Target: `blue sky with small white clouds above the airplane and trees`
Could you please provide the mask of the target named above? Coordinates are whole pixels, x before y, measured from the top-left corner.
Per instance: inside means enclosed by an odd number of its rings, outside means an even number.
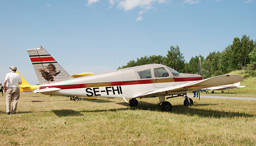
[[[70,75],[98,74],[170,46],[189,62],[255,41],[255,18],[256,0],[0,0],[0,83],[13,65],[39,83],[26,49],[40,45]]]

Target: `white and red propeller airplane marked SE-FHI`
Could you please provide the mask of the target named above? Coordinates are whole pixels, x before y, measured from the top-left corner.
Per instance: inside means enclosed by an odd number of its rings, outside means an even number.
[[[183,74],[162,64],[147,64],[110,72],[73,78],[42,47],[27,49],[40,88],[33,92],[46,95],[122,98],[129,106],[137,106],[136,98],[158,97],[157,106],[171,111],[172,104],[166,99],[184,97],[184,106],[193,105],[186,96],[202,88],[237,83],[244,77],[225,74],[203,79],[198,74]],[[126,98],[130,98],[129,102]]]

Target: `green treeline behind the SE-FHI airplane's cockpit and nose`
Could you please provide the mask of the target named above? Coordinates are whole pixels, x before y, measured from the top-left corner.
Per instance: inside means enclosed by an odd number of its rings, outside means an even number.
[[[250,36],[245,34],[241,39],[235,37],[233,44],[227,46],[222,52],[211,52],[206,58],[201,55],[191,57],[189,63],[185,62],[179,46],[171,46],[166,56],[140,57],[119,69],[158,63],[169,66],[177,72],[197,74],[199,57],[201,57],[201,75],[204,78],[241,69],[244,69],[248,76],[256,76],[256,41],[250,40]]]

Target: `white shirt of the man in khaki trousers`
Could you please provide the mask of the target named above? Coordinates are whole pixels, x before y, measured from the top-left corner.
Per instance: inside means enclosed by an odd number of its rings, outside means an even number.
[[[7,87],[19,87],[21,77],[20,74],[17,74],[16,72],[10,72],[6,74],[6,78],[4,80],[7,80]]]

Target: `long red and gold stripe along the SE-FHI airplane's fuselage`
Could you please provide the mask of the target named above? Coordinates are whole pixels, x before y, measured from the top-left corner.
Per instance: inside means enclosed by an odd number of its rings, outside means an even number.
[[[174,82],[187,82],[187,81],[197,81],[197,80],[202,80],[202,77],[175,78]],[[128,86],[128,85],[150,84],[150,83],[153,83],[153,81],[154,80],[131,80],[131,81],[120,81],[120,82],[108,82],[108,83],[87,83],[87,84],[74,84],[74,85],[43,86],[43,87],[40,87],[40,89],[45,89],[47,87],[60,88],[60,89],[80,89],[80,88],[93,88],[93,87],[105,87],[105,86]]]

